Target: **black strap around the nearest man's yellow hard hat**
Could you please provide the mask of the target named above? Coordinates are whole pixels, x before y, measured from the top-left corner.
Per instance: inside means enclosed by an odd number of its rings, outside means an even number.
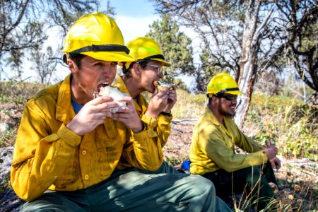
[[[91,45],[76,49],[69,54],[80,54],[81,52],[126,52],[129,54],[129,49],[122,45]]]

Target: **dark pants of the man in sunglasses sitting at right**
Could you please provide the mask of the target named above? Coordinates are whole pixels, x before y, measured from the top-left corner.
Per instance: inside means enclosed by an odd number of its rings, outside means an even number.
[[[221,199],[228,199],[229,195],[245,194],[251,196],[251,203],[257,204],[257,211],[265,208],[272,198],[275,198],[269,182],[276,182],[271,163],[261,166],[251,166],[235,172],[217,170],[208,172],[203,177],[210,179],[216,187],[216,194]]]

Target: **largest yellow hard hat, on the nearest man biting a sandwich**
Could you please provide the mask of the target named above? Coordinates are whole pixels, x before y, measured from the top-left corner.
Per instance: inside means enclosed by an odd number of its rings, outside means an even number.
[[[61,52],[81,53],[103,61],[134,61],[124,46],[124,37],[117,23],[99,12],[76,20],[66,34]]]

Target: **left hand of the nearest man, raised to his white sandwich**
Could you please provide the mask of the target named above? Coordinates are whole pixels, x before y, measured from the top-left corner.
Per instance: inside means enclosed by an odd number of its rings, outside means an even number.
[[[109,110],[115,107],[119,107],[119,105],[117,102],[113,102],[110,97],[95,98],[83,106],[71,122],[67,124],[67,127],[79,136],[83,136],[93,131],[96,126],[104,123],[105,117],[112,118],[112,113]]]

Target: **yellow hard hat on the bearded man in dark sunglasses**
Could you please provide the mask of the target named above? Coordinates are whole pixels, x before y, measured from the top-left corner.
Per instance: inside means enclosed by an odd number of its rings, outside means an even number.
[[[229,93],[232,95],[241,95],[237,83],[228,73],[218,73],[211,78],[206,89],[207,94]]]

